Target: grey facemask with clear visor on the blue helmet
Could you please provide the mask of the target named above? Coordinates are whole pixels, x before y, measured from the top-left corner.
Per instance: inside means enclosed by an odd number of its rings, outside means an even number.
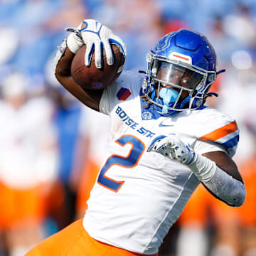
[[[147,62],[142,92],[164,115],[196,110],[205,102],[206,92],[216,79],[215,71],[192,65],[190,57],[180,53],[166,58],[150,51]]]

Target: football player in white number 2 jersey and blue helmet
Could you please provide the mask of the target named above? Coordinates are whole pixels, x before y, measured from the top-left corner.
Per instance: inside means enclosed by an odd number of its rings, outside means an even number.
[[[149,51],[146,73],[123,71],[104,90],[82,90],[70,75],[82,45],[85,64],[94,50],[97,68],[102,46],[109,65],[110,43],[126,54],[122,40],[99,21],[82,24],[68,30],[58,49],[55,76],[87,107],[110,116],[109,146],[84,218],[28,255],[158,255],[199,183],[230,206],[245,201],[245,185],[231,159],[238,126],[204,106],[218,75],[215,51],[200,33],[174,31]]]

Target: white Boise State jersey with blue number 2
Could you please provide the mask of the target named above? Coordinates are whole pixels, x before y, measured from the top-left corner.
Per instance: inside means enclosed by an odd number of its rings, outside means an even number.
[[[142,80],[124,71],[102,95],[110,137],[83,225],[96,240],[151,255],[199,183],[188,166],[147,152],[152,137],[176,134],[198,154],[221,150],[233,156],[239,135],[233,119],[210,107],[158,119],[142,113]]]

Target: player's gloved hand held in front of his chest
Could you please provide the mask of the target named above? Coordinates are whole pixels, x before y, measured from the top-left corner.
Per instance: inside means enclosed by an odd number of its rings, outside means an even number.
[[[152,139],[149,144],[148,152],[155,151],[169,159],[177,160],[181,164],[191,164],[195,153],[190,146],[184,144],[176,135],[168,137],[161,135]]]

